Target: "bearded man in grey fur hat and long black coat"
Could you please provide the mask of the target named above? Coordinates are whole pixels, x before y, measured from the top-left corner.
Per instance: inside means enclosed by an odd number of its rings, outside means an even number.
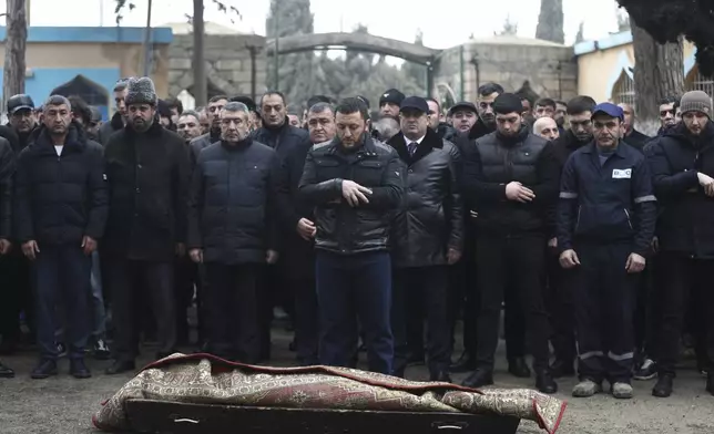
[[[176,344],[174,260],[185,250],[191,161],[183,138],[156,122],[156,101],[151,79],[132,79],[125,97],[130,122],[104,152],[110,207],[102,259],[116,324],[110,375],[135,369],[134,311],[147,302],[156,320],[156,358]]]

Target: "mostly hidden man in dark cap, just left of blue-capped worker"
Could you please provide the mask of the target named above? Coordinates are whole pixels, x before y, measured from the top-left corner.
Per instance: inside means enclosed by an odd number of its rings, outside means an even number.
[[[592,142],[592,111],[595,105],[595,100],[585,95],[575,96],[568,102],[570,128],[553,142],[553,151],[561,168],[573,152]],[[560,266],[557,238],[549,240],[548,252],[547,301],[553,329],[551,342],[555,352],[550,371],[558,379],[575,374],[575,324],[572,294],[567,282],[571,273]]]

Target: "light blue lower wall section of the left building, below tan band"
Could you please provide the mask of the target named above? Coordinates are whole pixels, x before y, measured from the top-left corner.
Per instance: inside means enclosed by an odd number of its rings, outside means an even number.
[[[50,93],[58,86],[71,81],[76,75],[93,81],[106,90],[109,104],[113,104],[112,89],[121,73],[119,68],[33,68],[33,76],[28,76],[24,82],[24,91],[40,105],[50,96]],[[0,82],[2,82],[2,70],[0,70]],[[0,90],[1,92],[2,90]],[[109,117],[109,106],[98,106],[104,121]],[[4,107],[2,107],[4,112]]]

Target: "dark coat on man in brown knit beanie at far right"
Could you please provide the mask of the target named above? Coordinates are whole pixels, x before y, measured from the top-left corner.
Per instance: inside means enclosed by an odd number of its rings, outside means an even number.
[[[660,249],[714,259],[714,198],[704,194],[697,173],[714,177],[714,124],[692,136],[684,124],[650,143],[647,161],[660,203]]]

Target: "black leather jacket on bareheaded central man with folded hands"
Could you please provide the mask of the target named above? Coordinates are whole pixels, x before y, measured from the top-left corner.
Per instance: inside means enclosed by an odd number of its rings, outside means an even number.
[[[349,206],[343,198],[343,179],[371,189],[369,204]],[[315,145],[299,186],[300,199],[315,207],[315,248],[340,255],[386,250],[405,180],[397,152],[367,135],[353,152],[343,149],[337,138]]]

